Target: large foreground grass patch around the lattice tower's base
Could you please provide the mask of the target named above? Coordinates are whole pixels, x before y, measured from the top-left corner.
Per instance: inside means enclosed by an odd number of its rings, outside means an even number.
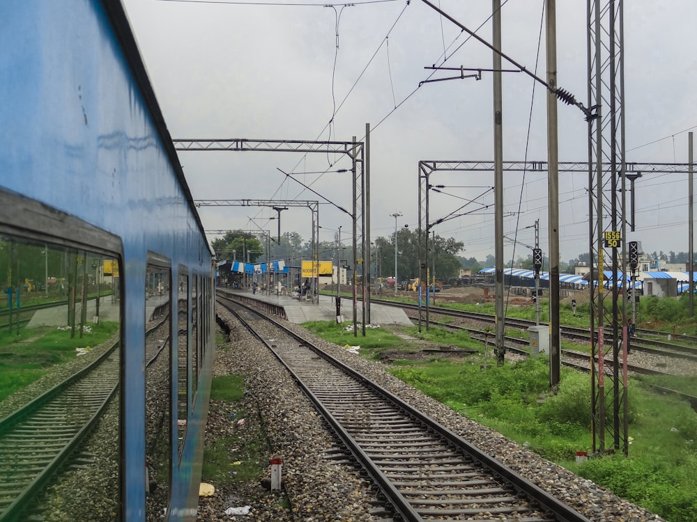
[[[654,395],[632,381],[629,458],[610,456],[576,464],[577,450],[592,450],[590,378],[562,368],[552,395],[546,357],[486,371],[480,370],[479,362],[439,361],[392,367],[390,372],[669,522],[697,520],[697,415],[688,404]]]

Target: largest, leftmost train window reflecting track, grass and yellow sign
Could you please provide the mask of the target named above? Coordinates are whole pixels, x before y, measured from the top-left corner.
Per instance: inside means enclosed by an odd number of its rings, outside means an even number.
[[[21,236],[0,225],[3,520],[121,516],[120,242],[63,220],[24,216],[47,232]]]

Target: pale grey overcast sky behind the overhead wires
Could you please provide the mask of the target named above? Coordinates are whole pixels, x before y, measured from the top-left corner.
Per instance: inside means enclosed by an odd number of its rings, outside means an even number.
[[[123,0],[171,136],[175,139],[362,141],[371,134],[371,236],[418,226],[418,162],[492,161],[492,75],[454,76],[424,67],[491,68],[491,52],[420,0],[227,2]],[[438,0],[434,0],[438,5]],[[546,77],[542,0],[502,0],[503,52]],[[491,42],[491,1],[440,0],[441,8]],[[558,84],[587,104],[585,1],[557,0]],[[625,2],[627,161],[687,163],[688,130],[697,130],[694,0]],[[541,33],[542,31],[542,33]],[[538,42],[540,50],[538,53]],[[337,48],[338,45],[338,48]],[[447,61],[443,63],[443,56]],[[503,62],[503,68],[514,68]],[[533,89],[534,88],[534,89]],[[503,76],[505,161],[546,161],[545,91],[526,74]],[[559,104],[560,161],[587,161],[587,125]],[[528,132],[528,127],[530,131]],[[342,156],[281,152],[179,152],[194,199],[319,200],[320,238],[351,220],[324,198],[351,209],[350,168]],[[316,194],[290,180],[293,173]],[[493,253],[493,173],[436,173],[444,194],[431,197],[431,221],[475,200],[436,228],[464,242],[462,255]],[[560,173],[562,260],[588,251],[588,174]],[[505,232],[549,251],[546,177],[505,174]],[[686,175],[636,182],[636,232],[645,251],[688,250]],[[488,208],[487,208],[488,207]],[[475,209],[480,208],[479,211]],[[273,209],[201,207],[206,230],[277,231]],[[281,231],[308,240],[310,212],[281,214]],[[216,236],[211,235],[209,239]],[[505,264],[513,248],[506,242]],[[530,251],[517,246],[515,258]]]

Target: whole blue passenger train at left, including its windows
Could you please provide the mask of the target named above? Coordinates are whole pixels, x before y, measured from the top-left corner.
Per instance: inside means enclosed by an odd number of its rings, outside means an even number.
[[[123,6],[0,19],[0,521],[194,520],[215,260]],[[16,428],[70,376],[53,424]]]

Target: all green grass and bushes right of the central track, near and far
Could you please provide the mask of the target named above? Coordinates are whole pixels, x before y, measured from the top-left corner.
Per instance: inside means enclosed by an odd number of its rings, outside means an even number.
[[[543,301],[544,303],[544,301]],[[487,313],[487,305],[476,311]],[[543,306],[546,306],[544,303]],[[694,335],[696,323],[686,313],[687,299],[642,299],[641,327]],[[459,308],[459,307],[458,307]],[[562,310],[562,324],[588,326],[588,304]],[[516,308],[516,317],[532,314],[534,307]],[[532,310],[532,311],[530,311]],[[493,311],[493,310],[492,310]],[[520,315],[518,315],[520,314]],[[509,310],[513,315],[513,310]],[[544,315],[541,315],[544,317]],[[529,317],[528,317],[529,318]],[[544,319],[543,319],[544,320]],[[584,324],[585,322],[585,324]],[[590,377],[562,367],[556,390],[549,390],[549,359],[528,358],[519,363],[493,365],[491,348],[484,364],[481,342],[466,334],[431,328],[407,328],[388,335],[367,330],[366,338],[348,336],[333,322],[305,324],[317,335],[339,345],[360,345],[360,354],[389,364],[385,369],[463,416],[495,429],[546,459],[641,505],[668,522],[697,520],[697,413],[689,403],[671,395],[657,395],[652,381],[686,393],[695,385],[685,377],[630,378],[628,390],[628,457],[622,452],[591,456],[576,463],[577,451],[592,450]],[[477,347],[478,353],[459,359],[435,354],[409,358],[410,339],[457,347]],[[400,358],[400,352],[405,356]],[[385,354],[390,354],[385,357]],[[608,441],[606,445],[612,445]]]

